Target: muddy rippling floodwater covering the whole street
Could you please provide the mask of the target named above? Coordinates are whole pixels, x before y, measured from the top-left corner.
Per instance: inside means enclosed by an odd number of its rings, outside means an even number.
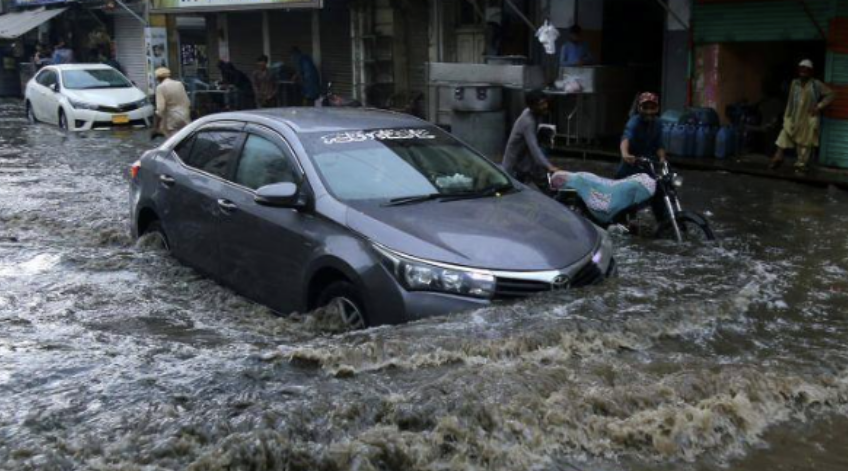
[[[685,172],[719,244],[344,333],[132,241],[148,147],[0,102],[0,469],[848,469],[846,193]]]

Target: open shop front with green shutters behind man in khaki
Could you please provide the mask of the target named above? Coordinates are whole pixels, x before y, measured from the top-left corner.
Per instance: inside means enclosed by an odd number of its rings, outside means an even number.
[[[809,59],[816,78],[834,85],[840,97],[822,122],[819,161],[848,167],[848,107],[844,88],[839,90],[848,84],[848,73],[842,73],[846,55],[839,52],[848,49],[848,40],[838,19],[846,4],[698,0],[693,12],[694,104],[715,109],[723,124],[739,129],[744,151],[770,154],[797,65]]]

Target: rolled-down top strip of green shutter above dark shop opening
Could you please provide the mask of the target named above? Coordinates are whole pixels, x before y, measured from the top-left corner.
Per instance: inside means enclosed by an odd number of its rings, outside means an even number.
[[[848,8],[838,0],[838,8]],[[833,0],[806,0],[819,26],[827,33]],[[798,0],[695,4],[695,42],[803,41],[822,39]]]

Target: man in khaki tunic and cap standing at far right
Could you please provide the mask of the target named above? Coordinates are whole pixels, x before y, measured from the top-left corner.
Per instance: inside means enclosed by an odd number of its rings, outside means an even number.
[[[777,151],[769,164],[776,169],[783,164],[786,149],[795,148],[798,161],[795,169],[806,171],[813,149],[819,145],[819,115],[836,98],[821,80],[813,78],[813,62],[804,59],[798,64],[798,78],[789,88],[789,99],[783,114],[783,130],[777,138]]]

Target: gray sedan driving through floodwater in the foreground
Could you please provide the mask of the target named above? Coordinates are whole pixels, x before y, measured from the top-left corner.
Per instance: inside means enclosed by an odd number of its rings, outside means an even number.
[[[606,233],[427,122],[213,115],[131,169],[135,237],[280,313],[397,324],[602,281]]]

